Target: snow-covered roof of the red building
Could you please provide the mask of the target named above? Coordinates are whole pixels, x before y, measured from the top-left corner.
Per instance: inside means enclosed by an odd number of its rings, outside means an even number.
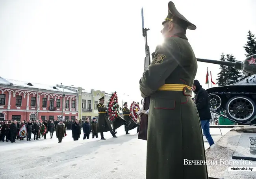
[[[24,88],[34,88],[34,89],[44,89],[44,90],[51,90],[51,91],[58,91],[58,92],[67,92],[67,93],[77,93],[72,90],[63,89],[60,87],[56,87],[55,85],[43,85],[40,83],[31,83],[26,81],[18,81],[14,79],[5,79],[0,77],[0,85],[11,85],[17,87],[24,87]]]

